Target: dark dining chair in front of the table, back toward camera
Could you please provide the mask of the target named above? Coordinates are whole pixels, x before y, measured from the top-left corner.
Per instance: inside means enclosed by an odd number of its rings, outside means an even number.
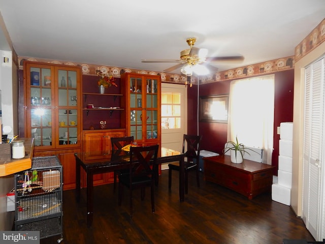
[[[159,145],[132,146],[130,148],[129,173],[118,177],[118,205],[123,198],[124,186],[129,189],[130,216],[133,215],[133,190],[141,188],[141,200],[145,197],[145,188],[151,188],[151,210],[154,212],[155,169]]]

